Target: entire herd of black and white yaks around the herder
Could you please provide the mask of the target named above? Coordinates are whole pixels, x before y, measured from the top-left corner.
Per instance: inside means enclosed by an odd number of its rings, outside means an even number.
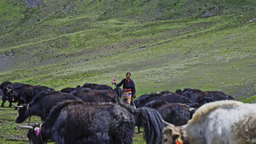
[[[9,107],[19,108],[15,122],[40,116],[42,124],[21,126],[34,144],[130,144],[135,126],[143,127],[148,144],[256,143],[256,105],[218,91],[166,90],[141,95],[127,106],[120,102],[121,88],[104,84],[56,91],[4,81],[0,95],[2,107],[8,100]]]

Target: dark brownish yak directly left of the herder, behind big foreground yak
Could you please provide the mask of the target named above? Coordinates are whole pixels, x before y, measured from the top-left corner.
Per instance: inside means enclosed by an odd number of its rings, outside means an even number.
[[[84,102],[113,102],[119,103],[120,99],[113,90],[90,90],[88,88],[76,88],[70,94],[76,95]]]

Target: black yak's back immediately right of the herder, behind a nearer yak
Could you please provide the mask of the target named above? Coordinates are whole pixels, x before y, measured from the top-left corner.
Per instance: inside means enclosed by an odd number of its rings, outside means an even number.
[[[191,103],[187,97],[183,97],[182,95],[178,95],[176,93],[169,93],[164,95],[162,93],[151,93],[149,95],[141,95],[138,97],[138,99],[134,100],[134,104],[136,108],[141,108],[152,100],[163,100],[164,102],[168,103]]]

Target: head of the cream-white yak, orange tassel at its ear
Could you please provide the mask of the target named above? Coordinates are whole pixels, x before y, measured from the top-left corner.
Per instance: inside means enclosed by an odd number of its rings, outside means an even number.
[[[175,127],[175,125],[168,124],[164,127],[162,134],[162,144],[184,144],[181,140],[180,127]]]

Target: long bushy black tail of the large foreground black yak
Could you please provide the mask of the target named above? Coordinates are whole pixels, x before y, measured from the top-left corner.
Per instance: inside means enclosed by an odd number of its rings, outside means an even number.
[[[136,118],[136,125],[141,125],[144,128],[144,137],[147,144],[161,143],[162,131],[164,128],[163,118],[155,109],[138,108],[120,104],[126,108]]]

